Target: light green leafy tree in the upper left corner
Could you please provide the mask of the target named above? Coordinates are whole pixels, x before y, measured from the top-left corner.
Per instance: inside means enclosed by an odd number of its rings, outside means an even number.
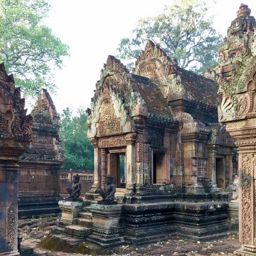
[[[0,61],[27,98],[42,87],[54,93],[51,69],[61,68],[69,55],[69,47],[42,23],[48,11],[47,0],[0,0]]]

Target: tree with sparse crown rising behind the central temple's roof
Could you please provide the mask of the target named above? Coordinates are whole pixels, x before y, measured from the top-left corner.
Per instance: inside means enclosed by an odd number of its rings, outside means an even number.
[[[202,0],[176,0],[158,16],[141,18],[132,36],[122,38],[117,57],[134,60],[147,40],[160,45],[169,57],[176,57],[184,69],[201,74],[216,63],[221,35],[211,27],[208,6]],[[133,64],[128,63],[131,68]]]

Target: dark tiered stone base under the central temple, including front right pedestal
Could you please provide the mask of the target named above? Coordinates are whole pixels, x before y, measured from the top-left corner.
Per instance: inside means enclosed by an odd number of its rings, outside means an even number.
[[[102,247],[144,245],[177,235],[187,240],[216,240],[228,231],[228,202],[118,204],[118,214],[113,207],[117,206],[91,206],[93,233],[88,240]]]

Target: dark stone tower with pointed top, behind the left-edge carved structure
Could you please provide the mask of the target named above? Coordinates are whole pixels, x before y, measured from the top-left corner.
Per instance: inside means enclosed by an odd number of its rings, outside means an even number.
[[[57,172],[64,161],[59,142],[59,115],[47,90],[42,89],[33,117],[32,143],[20,162],[18,216],[58,214]]]

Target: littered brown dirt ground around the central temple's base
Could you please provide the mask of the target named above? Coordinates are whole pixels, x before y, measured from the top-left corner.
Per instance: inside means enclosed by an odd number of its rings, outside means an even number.
[[[81,254],[67,252],[52,252],[38,247],[38,243],[47,236],[48,233],[57,226],[59,218],[45,217],[39,219],[18,220],[19,235],[23,238],[21,246],[24,248],[34,248],[33,254],[24,256],[80,256]],[[207,243],[190,242],[176,238],[175,240],[167,240],[156,244],[146,245],[134,248],[131,245],[122,245],[111,250],[102,250],[100,255],[117,255],[117,256],[206,256],[206,255],[234,255],[233,251],[240,248],[240,243],[235,235],[228,234],[228,238],[223,240],[215,240]],[[99,254],[90,254],[90,256],[99,256]]]

